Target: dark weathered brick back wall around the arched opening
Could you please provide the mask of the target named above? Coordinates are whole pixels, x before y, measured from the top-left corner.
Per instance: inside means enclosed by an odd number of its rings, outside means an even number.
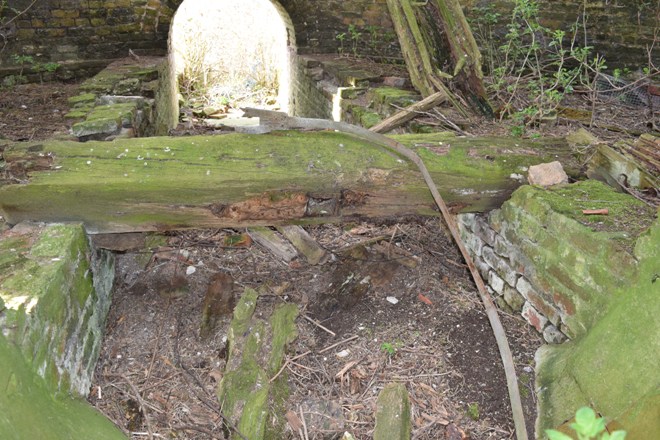
[[[478,7],[492,4],[506,17],[511,1],[463,0],[468,15],[479,17]],[[9,0],[8,5],[25,9],[31,2]],[[610,66],[634,66],[646,60],[645,46],[653,40],[657,11],[653,2],[589,1],[587,31],[589,44],[603,50]],[[95,61],[122,58],[129,49],[138,54],[163,55],[167,51],[170,23],[181,0],[43,0],[25,14],[11,20],[12,12],[0,12],[0,73],[16,73],[21,66],[12,55],[29,55],[35,63],[58,62],[60,77],[77,69],[98,68]],[[400,57],[385,0],[281,0],[291,17],[299,53],[336,53],[337,35],[345,33],[344,51],[352,51],[349,26],[360,33],[357,51],[375,56]],[[578,16],[582,1],[541,2],[545,24],[568,27]],[[503,33],[503,24],[496,34]],[[657,50],[657,49],[656,49]],[[656,52],[657,53],[657,52]],[[75,60],[75,62],[74,62]],[[7,70],[8,68],[14,70]],[[29,68],[29,65],[23,66]],[[68,71],[67,71],[68,68]]]

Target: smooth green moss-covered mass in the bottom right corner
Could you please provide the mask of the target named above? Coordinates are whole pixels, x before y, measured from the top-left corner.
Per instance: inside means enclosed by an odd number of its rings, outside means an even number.
[[[639,237],[634,255],[638,271],[626,286],[604,286],[611,304],[589,332],[537,353],[537,433],[583,405],[628,438],[660,432],[660,220]]]

